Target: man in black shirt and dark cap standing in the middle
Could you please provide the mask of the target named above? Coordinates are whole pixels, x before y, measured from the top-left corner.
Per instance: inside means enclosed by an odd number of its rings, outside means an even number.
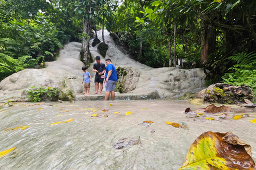
[[[104,63],[102,63],[100,61],[100,56],[96,56],[95,57],[95,61],[96,63],[93,64],[93,71],[96,73],[95,74],[95,79],[94,79],[94,82],[95,82],[95,92],[93,95],[95,94],[98,94],[98,86],[99,86],[99,83],[100,83],[100,95],[101,95],[101,92],[102,92],[102,89],[103,89],[103,82],[104,82],[104,73],[105,73],[105,69],[106,69],[106,66]]]

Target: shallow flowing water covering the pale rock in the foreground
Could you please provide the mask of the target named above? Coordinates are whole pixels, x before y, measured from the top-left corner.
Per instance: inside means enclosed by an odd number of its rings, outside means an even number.
[[[0,158],[1,170],[178,169],[191,143],[206,131],[233,132],[252,146],[252,156],[256,160],[255,124],[249,122],[252,118],[222,122],[188,120],[182,113],[187,107],[192,110],[203,107],[190,105],[188,101],[76,101],[73,104],[25,105],[18,103],[0,111],[0,151],[17,147]],[[102,109],[109,111],[103,113]],[[125,115],[127,111],[132,114]],[[247,112],[255,115],[255,109]],[[89,119],[92,114],[107,114],[108,117]],[[70,118],[74,121],[49,125]],[[147,128],[138,125],[143,121],[154,123]],[[165,121],[184,122],[189,130],[176,129]],[[29,126],[25,130],[3,131],[25,125]],[[150,133],[152,129],[154,133]],[[138,137],[141,139],[138,145],[125,149],[113,147],[118,139]]]

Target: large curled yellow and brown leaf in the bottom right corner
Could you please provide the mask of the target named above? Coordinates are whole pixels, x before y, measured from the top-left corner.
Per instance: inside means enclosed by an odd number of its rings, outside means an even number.
[[[189,148],[179,169],[254,169],[251,146],[231,132],[205,132]]]

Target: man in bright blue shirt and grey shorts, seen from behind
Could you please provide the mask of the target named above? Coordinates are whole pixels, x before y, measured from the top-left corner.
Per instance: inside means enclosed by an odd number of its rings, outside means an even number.
[[[105,101],[108,100],[110,95],[111,95],[111,100],[115,99],[115,86],[117,82],[116,68],[112,64],[109,58],[106,60],[106,64],[107,64],[107,67],[106,67],[106,74],[105,74],[105,81],[106,81]]]

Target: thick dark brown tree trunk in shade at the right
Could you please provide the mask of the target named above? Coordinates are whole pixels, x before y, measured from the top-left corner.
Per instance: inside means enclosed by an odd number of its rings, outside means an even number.
[[[215,52],[216,29],[210,28],[204,20],[201,20],[201,63],[207,62],[207,57]]]

